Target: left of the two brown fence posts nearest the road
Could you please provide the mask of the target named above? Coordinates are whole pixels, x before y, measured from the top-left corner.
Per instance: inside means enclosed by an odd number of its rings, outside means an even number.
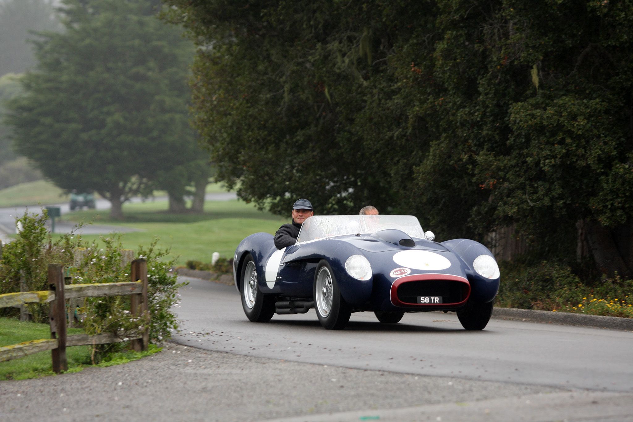
[[[57,340],[57,348],[51,351],[51,357],[53,357],[53,371],[60,373],[68,370],[64,268],[61,264],[48,264],[48,286],[55,292],[55,299],[51,302],[49,322],[51,323],[51,338]]]

